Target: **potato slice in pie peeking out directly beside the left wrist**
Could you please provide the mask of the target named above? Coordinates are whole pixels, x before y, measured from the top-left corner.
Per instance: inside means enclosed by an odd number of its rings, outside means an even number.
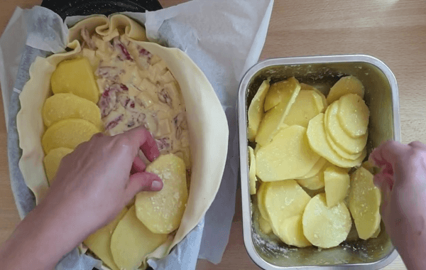
[[[109,222],[108,225],[101,229],[98,229],[93,234],[90,234],[89,237],[83,241],[83,243],[112,270],[119,270],[119,267],[116,266],[114,259],[112,258],[111,236],[120,220],[124,217],[124,215],[126,215],[126,212],[127,208],[124,208],[113,221]]]

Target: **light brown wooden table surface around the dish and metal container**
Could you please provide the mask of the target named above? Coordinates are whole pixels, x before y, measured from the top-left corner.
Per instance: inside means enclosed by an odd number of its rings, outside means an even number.
[[[184,0],[160,0],[164,7]],[[0,31],[16,6],[40,0],[4,0]],[[364,53],[383,60],[395,73],[400,94],[403,143],[426,142],[426,2],[424,0],[275,0],[261,59],[300,55]],[[1,97],[0,97],[1,98]],[[3,103],[0,102],[0,106]],[[3,108],[0,108],[3,113]],[[19,221],[9,183],[6,126],[0,117],[0,242]],[[244,249],[240,190],[228,247],[219,265],[199,261],[197,269],[257,269]],[[405,269],[395,259],[386,270]]]

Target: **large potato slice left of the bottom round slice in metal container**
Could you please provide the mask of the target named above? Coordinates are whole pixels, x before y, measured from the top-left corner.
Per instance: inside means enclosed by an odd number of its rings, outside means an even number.
[[[266,183],[264,196],[266,213],[276,235],[279,235],[283,221],[301,215],[310,201],[310,195],[295,180]]]

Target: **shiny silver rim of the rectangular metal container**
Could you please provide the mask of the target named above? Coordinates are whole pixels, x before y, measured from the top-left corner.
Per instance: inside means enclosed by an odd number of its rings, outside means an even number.
[[[376,66],[383,74],[386,76],[389,84],[391,85],[392,90],[392,114],[393,114],[393,127],[394,127],[394,140],[400,141],[400,115],[399,115],[399,97],[398,97],[398,83],[396,82],[395,75],[391,69],[383,63],[383,61],[375,58],[371,55],[363,54],[354,54],[354,55],[316,55],[316,56],[298,56],[298,57],[288,57],[288,58],[270,58],[262,60],[256,65],[253,65],[241,79],[238,92],[238,129],[239,129],[239,151],[240,151],[240,183],[241,183],[241,207],[243,215],[243,234],[244,234],[244,247],[246,247],[246,252],[249,254],[249,257],[253,260],[262,269],[324,269],[324,270],[336,270],[336,269],[360,269],[360,270],[371,270],[371,269],[381,269],[398,257],[398,252],[395,247],[393,251],[388,254],[387,257],[379,261],[375,261],[367,264],[339,264],[335,266],[275,266],[269,264],[264,259],[262,259],[256,250],[253,248],[253,239],[251,237],[251,199],[249,195],[249,185],[245,180],[248,178],[248,164],[247,164],[247,116],[246,116],[246,89],[249,86],[249,82],[253,75],[256,74],[259,70],[271,67],[275,65],[304,65],[304,64],[319,64],[319,63],[368,63]],[[244,102],[241,102],[244,101]],[[243,104],[244,103],[244,104]],[[244,179],[244,180],[243,180]]]

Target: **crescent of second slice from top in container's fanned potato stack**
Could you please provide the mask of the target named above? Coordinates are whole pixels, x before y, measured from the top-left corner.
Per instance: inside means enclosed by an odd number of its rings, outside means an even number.
[[[339,101],[331,104],[325,111],[324,126],[327,134],[329,134],[339,148],[342,148],[347,153],[360,153],[366,147],[368,132],[358,138],[352,138],[346,134],[342,126],[340,126],[339,120],[337,120],[338,110]]]

